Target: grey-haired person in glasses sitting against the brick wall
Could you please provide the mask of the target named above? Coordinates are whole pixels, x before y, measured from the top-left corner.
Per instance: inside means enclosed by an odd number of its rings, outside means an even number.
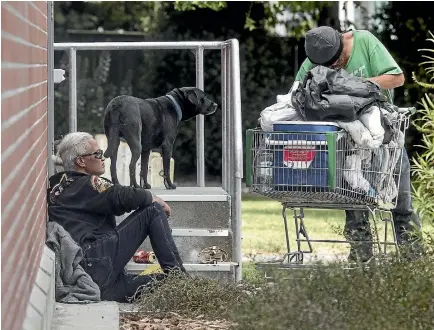
[[[81,246],[81,264],[100,287],[102,300],[125,302],[151,280],[164,278],[124,272],[147,236],[165,273],[185,272],[167,221],[170,207],[148,190],[100,177],[104,156],[92,135],[66,135],[57,146],[54,163],[60,172],[50,177],[49,221],[62,225]],[[115,216],[131,211],[116,226]]]

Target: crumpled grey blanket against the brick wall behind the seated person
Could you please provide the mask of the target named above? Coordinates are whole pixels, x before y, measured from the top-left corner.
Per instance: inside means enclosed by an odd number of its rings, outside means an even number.
[[[98,285],[80,265],[83,259],[81,247],[57,222],[48,221],[46,244],[56,255],[56,301],[62,303],[101,301]]]

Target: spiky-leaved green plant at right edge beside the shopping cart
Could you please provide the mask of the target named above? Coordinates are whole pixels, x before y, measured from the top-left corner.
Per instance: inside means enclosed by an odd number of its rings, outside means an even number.
[[[430,32],[430,35],[434,35]],[[428,39],[434,42],[434,39]],[[419,51],[434,52],[434,49],[420,49]],[[421,65],[429,65],[425,69],[428,80],[434,79],[434,59],[428,58],[429,61],[421,63]],[[433,84],[420,82],[416,79],[413,73],[415,82],[424,88],[434,88]],[[418,145],[421,152],[416,154],[413,159],[413,174],[414,174],[414,199],[416,208],[422,216],[428,220],[434,221],[434,98],[433,94],[427,93],[422,98],[422,110],[419,110],[421,117],[416,121],[415,127],[422,134],[422,139]]]

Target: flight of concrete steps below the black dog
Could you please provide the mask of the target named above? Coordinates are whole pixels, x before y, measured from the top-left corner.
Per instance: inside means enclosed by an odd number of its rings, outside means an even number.
[[[151,191],[164,201],[171,209],[169,219],[172,235],[182,260],[193,267],[199,275],[211,276],[218,279],[232,280],[234,278],[235,263],[232,259],[232,229],[231,229],[231,200],[227,192],[220,187],[179,187],[174,190],[164,188],[151,189]],[[119,217],[118,223],[128,214]],[[224,250],[227,262],[224,265],[210,267],[200,264],[199,253],[211,246]],[[150,241],[147,239],[139,249],[152,251]],[[131,261],[131,269],[141,269],[141,264]],[[140,271],[139,271],[140,272]],[[216,273],[212,275],[212,273]],[[217,274],[218,273],[218,274]]]

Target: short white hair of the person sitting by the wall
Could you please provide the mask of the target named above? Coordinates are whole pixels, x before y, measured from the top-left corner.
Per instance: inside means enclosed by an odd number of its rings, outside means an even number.
[[[75,171],[76,158],[89,151],[89,141],[93,136],[86,132],[74,132],[67,134],[57,147],[56,155],[53,155],[56,172]]]

